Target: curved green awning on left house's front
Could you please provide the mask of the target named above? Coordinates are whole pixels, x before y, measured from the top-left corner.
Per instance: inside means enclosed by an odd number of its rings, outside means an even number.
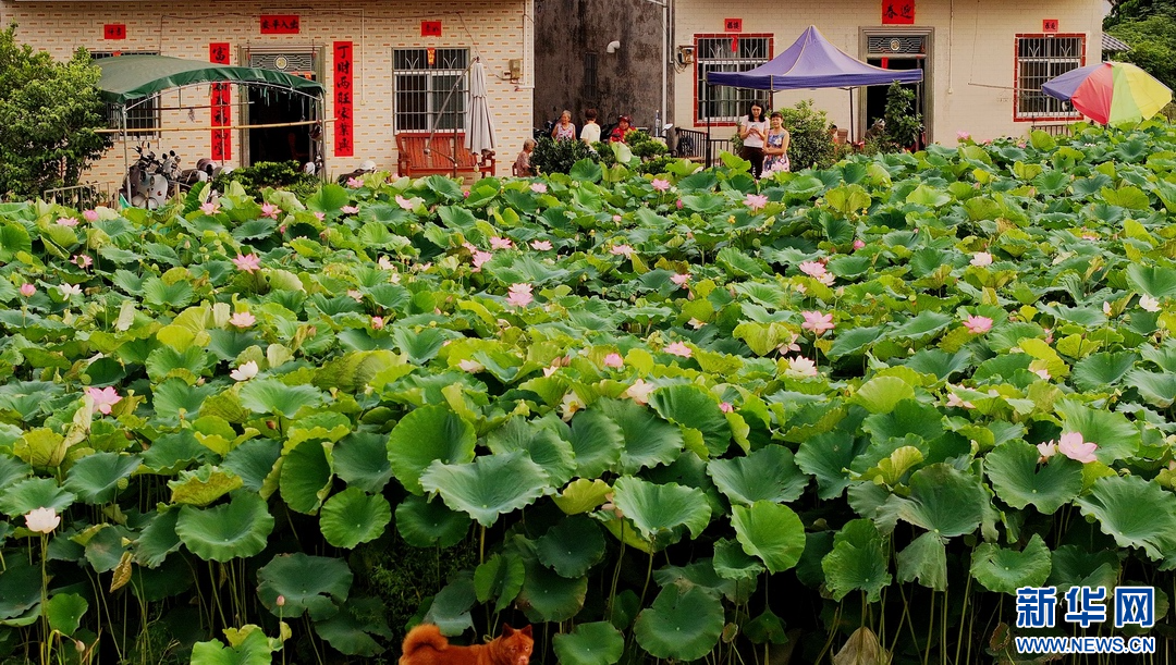
[[[312,96],[323,92],[321,83],[273,69],[230,67],[167,55],[119,55],[102,58],[95,65],[102,69],[98,81],[102,99],[112,103],[133,102],[180,86],[226,81],[269,83]]]

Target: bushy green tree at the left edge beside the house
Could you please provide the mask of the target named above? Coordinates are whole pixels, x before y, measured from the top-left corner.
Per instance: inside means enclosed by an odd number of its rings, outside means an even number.
[[[94,132],[106,121],[100,75],[85,49],[56,62],[19,45],[15,23],[0,32],[0,197],[76,184],[111,146]]]

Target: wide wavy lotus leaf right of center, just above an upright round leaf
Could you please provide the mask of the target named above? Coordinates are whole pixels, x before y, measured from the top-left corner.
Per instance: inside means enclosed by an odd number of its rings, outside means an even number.
[[[782,445],[766,445],[743,457],[711,459],[707,473],[731,503],[744,505],[757,501],[794,502],[808,485],[808,476],[793,462],[793,451]]]

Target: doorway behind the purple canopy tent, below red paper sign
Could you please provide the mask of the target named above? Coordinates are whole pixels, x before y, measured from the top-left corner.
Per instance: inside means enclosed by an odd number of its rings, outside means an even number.
[[[903,85],[915,93],[915,110],[923,116],[923,135],[920,147],[934,141],[931,136],[931,28],[908,31],[863,31],[866,62],[883,69],[922,69],[922,83]],[[887,89],[889,86],[869,86],[861,96],[858,135],[886,115]]]

